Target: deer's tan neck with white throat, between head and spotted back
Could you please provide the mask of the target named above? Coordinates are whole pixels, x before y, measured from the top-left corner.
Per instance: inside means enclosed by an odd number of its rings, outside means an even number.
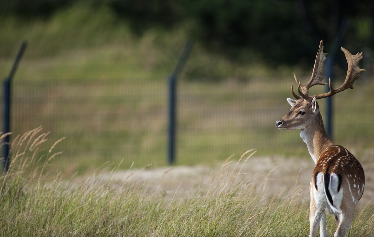
[[[306,143],[314,163],[317,163],[322,153],[334,144],[326,133],[321,113],[318,113],[306,128],[301,129],[300,137]]]

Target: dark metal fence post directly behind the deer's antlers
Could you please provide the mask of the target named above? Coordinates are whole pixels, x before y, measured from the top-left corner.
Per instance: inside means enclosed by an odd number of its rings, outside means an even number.
[[[343,37],[347,31],[349,21],[347,18],[343,19],[341,22],[341,25],[338,30],[338,34],[334,39],[334,42],[332,43],[331,49],[329,53],[327,54],[327,60],[326,60],[326,78],[331,77],[331,82],[333,78],[333,72],[332,72],[332,66],[334,66],[335,61],[335,54],[337,53],[338,48],[340,47],[341,41],[343,41]],[[326,85],[326,92],[330,90],[329,85]],[[333,106],[332,106],[332,96],[326,98],[326,132],[329,138],[332,140],[332,116],[333,116]]]

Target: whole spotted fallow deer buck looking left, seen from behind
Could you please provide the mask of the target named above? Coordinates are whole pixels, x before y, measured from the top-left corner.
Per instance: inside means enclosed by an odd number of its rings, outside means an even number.
[[[322,76],[326,54],[323,52],[322,40],[319,43],[312,77],[306,85],[297,83],[297,90],[300,96],[296,95],[291,84],[291,93],[296,100],[287,98],[292,106],[291,110],[282,119],[275,122],[279,129],[300,129],[300,137],[308,147],[310,156],[316,163],[310,181],[310,234],[314,237],[320,227],[320,236],[326,237],[326,216],[325,210],[335,216],[338,223],[334,237],[346,235],[355,215],[357,202],[364,193],[365,175],[361,164],[346,148],[334,144],[328,137],[319,105],[316,100],[333,96],[347,88],[353,89],[353,82],[360,77],[361,72],[366,71],[358,66],[363,58],[362,53],[351,54],[341,47],[348,62],[346,79],[340,87],[332,87],[329,78],[329,92],[309,96],[309,88],[313,85],[325,85]]]

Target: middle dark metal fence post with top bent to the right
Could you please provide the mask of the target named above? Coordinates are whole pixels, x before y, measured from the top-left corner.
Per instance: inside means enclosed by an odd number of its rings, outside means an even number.
[[[188,55],[191,52],[192,41],[188,40],[184,45],[182,54],[180,55],[177,65],[174,68],[173,73],[169,77],[169,92],[168,92],[168,117],[169,117],[169,127],[168,127],[168,163],[169,165],[175,162],[175,139],[176,139],[176,105],[177,105],[177,76],[182,70],[184,64],[187,61]]]

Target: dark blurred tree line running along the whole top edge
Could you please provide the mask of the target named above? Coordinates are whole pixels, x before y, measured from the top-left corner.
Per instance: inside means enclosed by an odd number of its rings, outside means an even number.
[[[108,9],[114,19],[109,27],[124,21],[136,35],[149,29],[184,29],[205,48],[237,62],[312,62],[315,45],[324,39],[328,49],[344,18],[351,19],[345,47],[362,48],[374,43],[373,6],[365,1],[20,0],[5,1],[3,14],[35,21],[77,5],[92,14]],[[77,23],[82,25],[80,29],[91,24]],[[243,50],[255,53],[255,59]]]

